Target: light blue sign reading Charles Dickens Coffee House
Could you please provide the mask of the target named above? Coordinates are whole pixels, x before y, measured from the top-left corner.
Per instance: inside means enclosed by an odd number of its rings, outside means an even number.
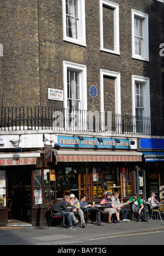
[[[57,144],[63,148],[106,148],[106,149],[130,149],[129,139],[120,139],[117,143],[115,139],[103,138],[103,142],[98,142],[97,138],[84,138],[80,141],[78,137],[60,137],[57,138]]]

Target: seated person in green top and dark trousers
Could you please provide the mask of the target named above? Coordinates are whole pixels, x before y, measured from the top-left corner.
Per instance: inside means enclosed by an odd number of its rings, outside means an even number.
[[[132,202],[132,212],[137,213],[137,222],[139,222],[140,219],[140,214],[143,212],[143,217],[142,217],[142,221],[143,222],[148,222],[147,220],[147,210],[144,207],[142,201],[140,200],[139,196],[137,194],[134,194],[134,196],[132,196],[127,203],[131,203]]]

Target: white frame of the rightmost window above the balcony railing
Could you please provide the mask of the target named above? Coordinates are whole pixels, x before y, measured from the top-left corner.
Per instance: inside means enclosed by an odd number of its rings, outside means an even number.
[[[150,118],[150,79],[146,77],[139,77],[132,75],[132,114],[136,116],[136,104],[135,104],[135,83],[143,83],[143,117]]]

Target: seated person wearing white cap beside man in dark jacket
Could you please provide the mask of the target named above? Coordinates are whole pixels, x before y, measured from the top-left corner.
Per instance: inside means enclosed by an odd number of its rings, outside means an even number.
[[[74,209],[77,209],[82,228],[85,228],[84,213],[83,213],[83,210],[81,210],[79,200],[77,199],[77,197],[75,197],[74,194],[71,194],[69,196],[68,206],[72,206]],[[74,212],[71,212],[71,215],[72,215],[73,222],[75,223],[75,226],[79,226],[79,222],[78,222],[77,218],[74,216]]]

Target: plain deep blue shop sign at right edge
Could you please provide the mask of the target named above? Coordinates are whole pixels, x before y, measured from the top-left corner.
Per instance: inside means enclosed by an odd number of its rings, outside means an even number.
[[[140,149],[164,149],[164,139],[140,139]]]

